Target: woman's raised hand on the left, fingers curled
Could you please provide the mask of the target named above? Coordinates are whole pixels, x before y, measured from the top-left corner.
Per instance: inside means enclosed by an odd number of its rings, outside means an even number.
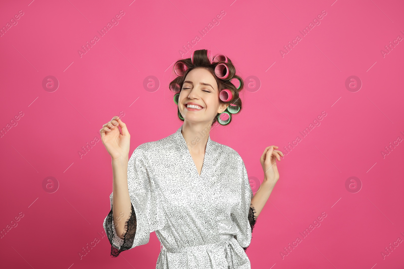
[[[118,126],[121,128],[119,130]],[[124,158],[128,161],[130,134],[126,124],[119,116],[115,116],[111,121],[105,123],[100,130],[101,140],[112,159]]]

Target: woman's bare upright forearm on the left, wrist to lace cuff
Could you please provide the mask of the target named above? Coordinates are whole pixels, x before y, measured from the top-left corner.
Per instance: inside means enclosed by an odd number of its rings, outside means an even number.
[[[131,202],[128,191],[128,160],[124,158],[112,159],[112,214],[116,234],[122,237],[125,222],[131,213]]]

